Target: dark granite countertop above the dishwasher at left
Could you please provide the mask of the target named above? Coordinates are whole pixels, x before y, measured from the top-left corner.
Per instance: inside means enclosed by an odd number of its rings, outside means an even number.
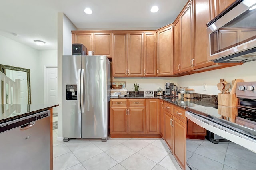
[[[18,119],[21,117],[26,117],[28,115],[33,115],[34,113],[38,113],[41,111],[48,110],[52,107],[56,107],[56,105],[50,105],[50,104],[42,104],[42,105],[18,105],[18,104],[6,104],[6,105],[0,105],[0,124],[5,123],[8,121],[12,121],[14,119]]]

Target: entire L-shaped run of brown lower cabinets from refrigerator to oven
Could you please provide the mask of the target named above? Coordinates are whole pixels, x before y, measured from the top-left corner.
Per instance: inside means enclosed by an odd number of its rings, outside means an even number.
[[[162,99],[110,99],[112,138],[163,138],[184,170],[186,137],[204,138],[206,130],[185,117],[185,109]]]

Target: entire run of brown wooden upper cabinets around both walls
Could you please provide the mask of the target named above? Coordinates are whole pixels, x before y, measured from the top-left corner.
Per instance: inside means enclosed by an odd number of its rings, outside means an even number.
[[[190,0],[174,24],[158,30],[72,31],[72,43],[84,44],[87,53],[112,58],[113,77],[172,77],[240,65],[207,60],[206,24],[234,1]],[[236,34],[230,38],[235,42],[252,32],[223,30],[213,36],[221,39]]]

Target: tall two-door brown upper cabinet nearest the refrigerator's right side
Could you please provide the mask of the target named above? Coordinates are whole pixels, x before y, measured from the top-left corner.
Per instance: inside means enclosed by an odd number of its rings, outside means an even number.
[[[112,33],[114,77],[143,77],[144,33]]]

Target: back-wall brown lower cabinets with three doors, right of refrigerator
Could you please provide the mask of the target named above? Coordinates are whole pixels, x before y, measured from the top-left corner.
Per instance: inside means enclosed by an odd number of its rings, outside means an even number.
[[[159,125],[159,99],[110,99],[112,138],[160,138]]]

